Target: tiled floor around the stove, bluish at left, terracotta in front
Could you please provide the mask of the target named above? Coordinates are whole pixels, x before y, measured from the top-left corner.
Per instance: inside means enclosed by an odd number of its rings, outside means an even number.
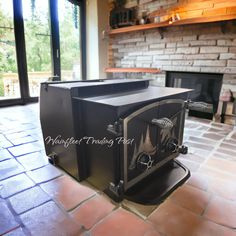
[[[106,195],[51,166],[38,104],[0,110],[0,235],[236,236],[236,128],[188,118],[191,177],[159,206]]]

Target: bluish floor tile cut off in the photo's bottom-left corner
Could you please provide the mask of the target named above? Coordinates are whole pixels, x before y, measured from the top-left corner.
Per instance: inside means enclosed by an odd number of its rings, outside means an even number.
[[[0,200],[0,235],[17,228],[19,224],[3,200]]]

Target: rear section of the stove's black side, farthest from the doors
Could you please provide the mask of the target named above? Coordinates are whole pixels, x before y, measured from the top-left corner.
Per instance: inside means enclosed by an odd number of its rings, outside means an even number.
[[[84,179],[79,166],[76,145],[63,143],[76,139],[71,90],[56,86],[41,86],[40,122],[48,156],[54,155],[55,164],[78,180]],[[81,171],[79,171],[81,169]]]

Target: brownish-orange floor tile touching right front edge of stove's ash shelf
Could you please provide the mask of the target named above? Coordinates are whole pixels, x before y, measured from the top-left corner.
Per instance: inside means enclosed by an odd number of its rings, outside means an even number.
[[[170,196],[170,200],[201,215],[210,200],[210,194],[185,184]]]

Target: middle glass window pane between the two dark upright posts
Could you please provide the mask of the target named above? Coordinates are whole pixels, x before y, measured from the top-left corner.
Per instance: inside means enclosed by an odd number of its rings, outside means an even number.
[[[52,76],[48,0],[23,0],[30,96],[39,96],[40,83]]]

